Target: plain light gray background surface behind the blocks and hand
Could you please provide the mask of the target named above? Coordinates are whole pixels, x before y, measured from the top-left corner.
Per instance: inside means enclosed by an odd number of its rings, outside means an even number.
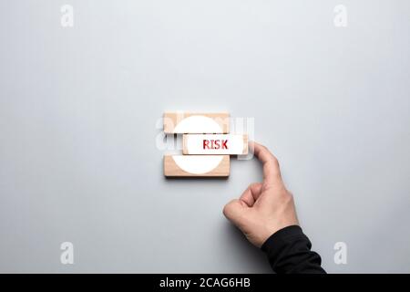
[[[327,271],[410,272],[409,1],[1,1],[0,37],[1,272],[270,272],[221,213],[259,163],[165,180],[164,110],[253,117]]]

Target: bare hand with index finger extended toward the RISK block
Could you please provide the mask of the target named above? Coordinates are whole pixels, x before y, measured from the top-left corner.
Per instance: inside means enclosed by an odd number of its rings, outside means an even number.
[[[251,183],[239,199],[225,205],[223,214],[251,244],[261,247],[275,232],[299,223],[292,193],[282,182],[278,160],[256,142],[254,154],[263,165],[263,182]]]

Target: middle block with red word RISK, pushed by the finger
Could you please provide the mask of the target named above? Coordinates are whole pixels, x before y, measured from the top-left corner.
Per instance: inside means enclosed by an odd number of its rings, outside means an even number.
[[[241,134],[185,134],[184,154],[245,155],[248,154],[248,135]]]

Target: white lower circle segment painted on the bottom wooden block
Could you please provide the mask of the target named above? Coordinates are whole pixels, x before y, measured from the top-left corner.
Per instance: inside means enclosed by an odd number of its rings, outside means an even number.
[[[173,155],[172,159],[184,172],[192,174],[204,174],[211,172],[220,165],[223,156],[210,155]]]

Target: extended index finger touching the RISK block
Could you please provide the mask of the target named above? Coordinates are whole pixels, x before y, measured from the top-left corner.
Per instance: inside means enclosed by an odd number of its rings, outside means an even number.
[[[281,182],[281,170],[276,157],[265,146],[257,142],[253,144],[253,153],[263,165],[263,181],[268,184]]]

